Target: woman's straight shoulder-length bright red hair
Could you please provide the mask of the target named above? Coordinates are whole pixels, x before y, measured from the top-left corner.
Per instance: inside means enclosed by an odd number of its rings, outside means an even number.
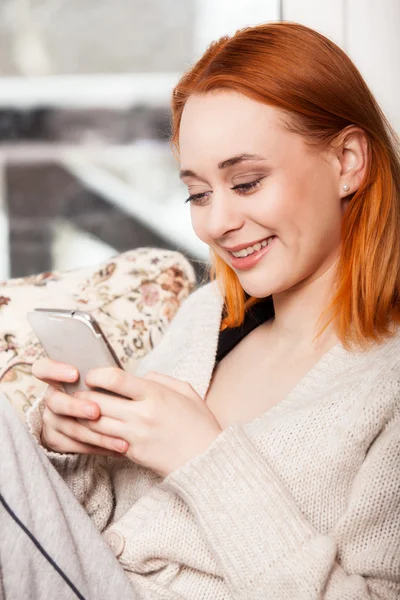
[[[239,92],[284,111],[284,126],[303,137],[312,151],[334,144],[349,125],[367,137],[363,183],[342,218],[336,289],[322,316],[335,319],[339,340],[391,337],[400,324],[400,144],[361,74],[343,50],[298,23],[273,22],[239,29],[211,43],[180,78],[172,95],[172,149],[179,153],[179,128],[189,96],[217,90]],[[260,301],[246,297],[236,273],[212,249],[209,277],[225,296],[221,330],[243,323],[246,310]],[[316,339],[315,338],[315,339]]]

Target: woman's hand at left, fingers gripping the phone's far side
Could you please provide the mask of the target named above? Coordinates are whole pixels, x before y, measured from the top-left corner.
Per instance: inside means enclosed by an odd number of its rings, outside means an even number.
[[[42,446],[61,453],[121,456],[121,452],[115,451],[113,443],[123,440],[100,435],[78,421],[95,421],[101,414],[98,404],[82,402],[65,393],[62,384],[78,379],[78,370],[75,367],[41,358],[33,363],[32,374],[49,385],[44,395],[45,408],[40,439]]]

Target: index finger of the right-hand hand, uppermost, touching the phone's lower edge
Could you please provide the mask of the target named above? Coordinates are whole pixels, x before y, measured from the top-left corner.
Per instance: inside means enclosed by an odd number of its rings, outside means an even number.
[[[91,388],[102,388],[131,400],[144,400],[151,389],[154,389],[154,385],[157,385],[118,367],[91,369],[86,375],[85,383]]]

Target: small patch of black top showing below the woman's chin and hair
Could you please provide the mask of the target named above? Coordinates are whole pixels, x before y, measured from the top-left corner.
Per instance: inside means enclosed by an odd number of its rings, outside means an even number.
[[[223,313],[223,317],[225,313]],[[217,357],[215,365],[230,352],[250,331],[253,331],[261,323],[275,316],[272,296],[263,298],[252,306],[245,315],[244,322],[240,327],[228,327],[219,332]],[[222,318],[223,318],[222,317]]]

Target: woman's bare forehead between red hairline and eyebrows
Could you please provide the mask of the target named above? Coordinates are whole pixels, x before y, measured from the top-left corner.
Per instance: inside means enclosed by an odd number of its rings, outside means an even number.
[[[183,109],[179,147],[181,161],[212,153],[226,157],[241,152],[262,153],[287,135],[279,109],[236,92],[191,96]]]

